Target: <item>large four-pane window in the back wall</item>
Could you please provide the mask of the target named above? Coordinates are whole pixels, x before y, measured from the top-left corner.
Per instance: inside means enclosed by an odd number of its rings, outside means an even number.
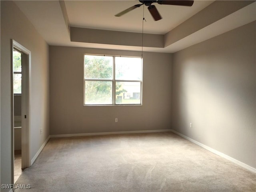
[[[84,105],[141,105],[142,58],[84,55]]]

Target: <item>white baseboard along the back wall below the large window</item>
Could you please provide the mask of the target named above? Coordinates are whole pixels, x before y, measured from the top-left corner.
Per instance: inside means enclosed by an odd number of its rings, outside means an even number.
[[[61,134],[61,135],[51,135],[54,137],[75,137],[75,136],[94,136],[94,135],[113,135],[113,134],[132,134],[132,133],[157,133],[157,132],[170,132],[170,129],[160,129],[160,130],[141,130],[141,131],[116,131],[116,132],[100,132],[100,133],[78,133],[78,134]]]

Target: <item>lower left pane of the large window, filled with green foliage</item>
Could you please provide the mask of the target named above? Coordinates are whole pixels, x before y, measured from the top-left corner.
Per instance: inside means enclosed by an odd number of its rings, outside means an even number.
[[[85,104],[112,104],[112,82],[86,81]]]

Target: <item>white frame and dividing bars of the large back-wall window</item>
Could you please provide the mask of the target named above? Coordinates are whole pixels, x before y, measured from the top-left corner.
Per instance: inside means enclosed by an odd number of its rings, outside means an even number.
[[[113,74],[112,79],[95,79],[95,78],[85,78],[84,74],[84,106],[142,106],[142,80],[143,80],[143,58],[138,56],[117,56],[117,55],[102,55],[102,54],[84,54],[92,56],[112,56],[113,57]],[[141,58],[141,80],[116,80],[115,74],[115,58],[116,57],[130,57],[130,58]],[[83,61],[83,65],[85,68],[85,64]],[[108,81],[112,82],[112,104],[85,104],[85,82],[86,81]],[[140,103],[139,104],[116,104],[116,82],[140,82]]]

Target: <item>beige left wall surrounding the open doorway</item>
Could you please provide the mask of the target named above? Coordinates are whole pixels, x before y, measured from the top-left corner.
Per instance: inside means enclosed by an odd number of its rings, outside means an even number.
[[[49,60],[48,45],[16,4],[12,1],[0,3],[1,184],[11,184],[11,39],[31,51],[31,159],[49,136]],[[40,129],[43,130],[41,135]]]

